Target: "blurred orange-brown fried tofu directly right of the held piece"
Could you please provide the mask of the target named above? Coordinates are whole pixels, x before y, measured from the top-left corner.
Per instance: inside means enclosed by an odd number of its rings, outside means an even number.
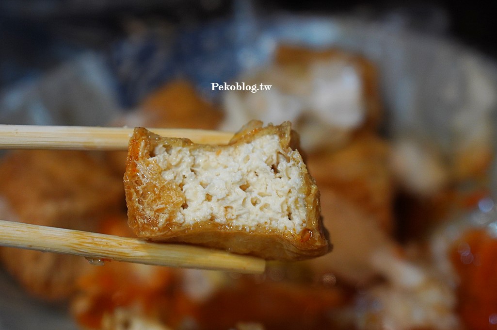
[[[307,166],[321,190],[338,194],[376,221],[386,233],[392,233],[395,184],[389,154],[385,140],[366,133],[336,151],[309,154]],[[322,199],[322,204],[325,203],[328,201]]]

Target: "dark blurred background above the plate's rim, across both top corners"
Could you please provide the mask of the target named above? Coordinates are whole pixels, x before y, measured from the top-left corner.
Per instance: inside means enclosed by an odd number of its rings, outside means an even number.
[[[2,0],[0,91],[131,31],[195,26],[233,14],[227,0]],[[455,39],[497,59],[496,1],[250,1],[260,14],[348,14]],[[164,30],[164,29],[163,29]]]

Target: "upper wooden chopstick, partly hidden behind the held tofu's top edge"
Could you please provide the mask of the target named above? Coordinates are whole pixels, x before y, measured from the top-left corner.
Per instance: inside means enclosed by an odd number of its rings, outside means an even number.
[[[226,144],[232,132],[185,128],[149,128],[166,137],[196,143]],[[0,124],[0,149],[128,150],[130,127],[41,126]]]

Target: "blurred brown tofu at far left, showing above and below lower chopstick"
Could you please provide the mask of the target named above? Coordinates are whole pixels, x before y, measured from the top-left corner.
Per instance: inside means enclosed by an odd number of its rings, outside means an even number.
[[[0,182],[5,220],[95,231],[103,214],[124,204],[122,181],[80,151],[12,152],[0,164]],[[78,256],[7,247],[0,258],[29,293],[52,301],[68,298],[91,267]]]

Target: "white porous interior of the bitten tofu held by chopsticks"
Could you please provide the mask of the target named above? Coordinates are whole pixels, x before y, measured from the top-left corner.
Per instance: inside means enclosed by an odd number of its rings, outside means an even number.
[[[214,151],[159,145],[155,155],[162,177],[185,195],[178,223],[210,220],[248,232],[262,226],[296,234],[306,226],[302,158],[297,151],[288,157],[277,135]]]

